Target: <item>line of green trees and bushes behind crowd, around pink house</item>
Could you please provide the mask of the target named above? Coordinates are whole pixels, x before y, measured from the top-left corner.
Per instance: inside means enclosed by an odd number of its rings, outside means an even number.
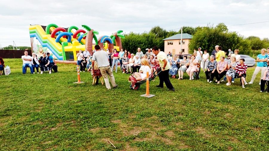
[[[137,48],[140,47],[143,52],[146,48],[158,46],[162,51],[164,50],[163,39],[180,34],[179,31],[166,31],[165,29],[156,26],[149,32],[143,33],[126,33],[125,38],[122,40],[122,46],[131,53],[135,53]],[[230,32],[224,23],[217,26],[207,25],[205,27],[183,27],[183,33],[188,33],[193,36],[189,43],[189,53],[194,49],[201,47],[202,50],[207,49],[212,52],[215,45],[222,46],[224,51],[228,49],[239,49],[240,54],[251,55],[253,50],[260,50],[269,47],[269,39],[261,39],[256,36],[244,37],[236,32]]]

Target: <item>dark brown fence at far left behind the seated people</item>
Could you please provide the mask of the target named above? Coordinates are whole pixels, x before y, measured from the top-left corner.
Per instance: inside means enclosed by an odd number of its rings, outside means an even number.
[[[0,57],[2,58],[22,58],[25,50],[1,50]],[[32,50],[26,50],[28,55],[32,56]]]

